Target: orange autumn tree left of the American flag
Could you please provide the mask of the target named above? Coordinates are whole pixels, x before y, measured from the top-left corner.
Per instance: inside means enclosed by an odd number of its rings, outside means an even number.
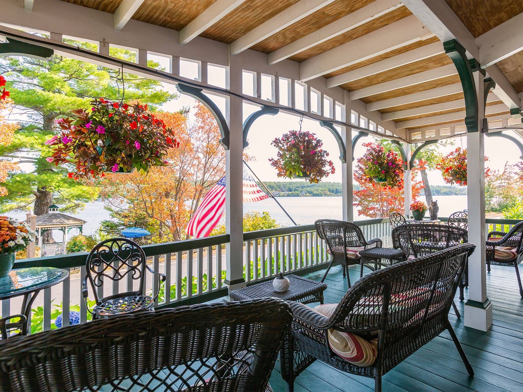
[[[225,151],[218,124],[200,103],[192,121],[181,112],[155,115],[173,128],[179,148],[169,149],[166,165],[147,174],[107,175],[101,196],[123,226],[143,222],[153,233],[152,242],[161,243],[185,239],[191,214],[224,176]]]

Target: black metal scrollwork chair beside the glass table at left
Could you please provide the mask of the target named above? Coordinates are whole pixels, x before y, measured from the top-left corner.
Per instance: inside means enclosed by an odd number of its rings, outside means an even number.
[[[102,241],[90,251],[85,266],[87,273],[82,285],[82,295],[87,302],[87,279],[93,288],[96,305],[92,310],[93,318],[104,318],[131,312],[149,310],[154,312],[154,301],[160,293],[161,282],[165,275],[155,272],[147,266],[143,249],[127,238],[111,238]],[[153,297],[145,295],[145,269],[158,275],[158,286]],[[111,281],[127,280],[128,290],[102,297],[104,278]],[[138,290],[133,290],[134,281],[139,281]],[[89,307],[87,306],[87,309]]]

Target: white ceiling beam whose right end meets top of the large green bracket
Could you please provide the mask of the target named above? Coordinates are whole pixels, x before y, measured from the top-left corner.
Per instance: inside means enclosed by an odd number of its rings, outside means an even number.
[[[397,56],[390,57],[389,59],[362,66],[354,71],[329,77],[327,79],[327,87],[340,86],[345,83],[353,82],[354,80],[376,75],[380,72],[389,71],[393,68],[401,67],[419,60],[424,60],[428,57],[436,56],[441,53],[445,53],[443,44],[441,42],[429,43],[428,45],[424,45],[423,47],[398,54]]]

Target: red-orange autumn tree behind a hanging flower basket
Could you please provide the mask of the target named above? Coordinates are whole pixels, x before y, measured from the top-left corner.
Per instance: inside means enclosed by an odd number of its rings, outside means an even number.
[[[384,147],[385,149],[391,148],[391,145],[384,144]],[[363,159],[364,157],[358,158],[358,164],[354,170],[354,179],[360,186],[359,190],[354,191],[354,206],[358,207],[360,215],[365,215],[369,218],[382,218],[389,216],[394,211],[403,213],[405,208],[403,179],[394,188],[369,181],[361,165]],[[416,180],[418,172],[424,168],[424,161],[420,160],[418,165],[411,170],[412,200],[416,200],[424,188],[423,181]]]

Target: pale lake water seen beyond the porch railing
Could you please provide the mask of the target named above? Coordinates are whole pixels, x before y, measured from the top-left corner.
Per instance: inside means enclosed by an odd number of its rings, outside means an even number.
[[[277,198],[280,204],[292,216],[298,224],[311,224],[319,218],[342,218],[342,197],[282,197]],[[462,211],[467,208],[466,195],[436,196],[438,201],[439,215],[449,216],[455,211]],[[424,200],[424,198],[420,198]],[[244,212],[247,211],[267,211],[282,226],[291,226],[292,222],[280,209],[278,204],[272,199],[265,199],[253,203],[243,204]],[[7,213],[8,216],[25,220],[25,213]],[[84,226],[84,234],[94,234],[100,222],[109,219],[109,212],[104,209],[103,202],[87,203],[84,210],[79,211],[74,216],[87,221]],[[366,216],[358,216],[357,219],[367,219]],[[73,233],[71,233],[73,234]],[[55,237],[60,240],[60,237]]]

